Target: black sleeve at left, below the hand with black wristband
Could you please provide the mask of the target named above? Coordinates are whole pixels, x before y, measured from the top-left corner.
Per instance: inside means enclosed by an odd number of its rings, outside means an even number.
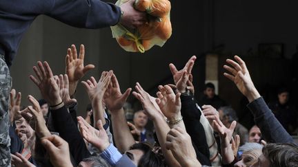
[[[54,129],[59,135],[68,142],[70,154],[79,164],[82,159],[90,157],[90,153],[86,148],[86,144],[79,133],[77,125],[72,121],[71,115],[65,106],[57,110],[51,110]]]

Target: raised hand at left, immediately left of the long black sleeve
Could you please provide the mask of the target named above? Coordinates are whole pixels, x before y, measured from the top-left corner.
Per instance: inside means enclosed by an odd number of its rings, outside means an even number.
[[[50,131],[48,131],[46,121],[43,119],[43,113],[39,107],[39,102],[30,95],[28,96],[28,100],[32,104],[32,106],[28,106],[28,110],[23,111],[21,114],[26,120],[30,120],[30,126],[32,126],[32,128],[35,130],[35,133],[37,133],[39,137],[49,136]],[[28,112],[32,114],[33,119],[30,118]]]

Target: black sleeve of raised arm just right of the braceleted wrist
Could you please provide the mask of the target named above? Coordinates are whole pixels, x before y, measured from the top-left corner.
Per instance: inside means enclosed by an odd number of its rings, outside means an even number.
[[[186,126],[186,131],[192,139],[195,150],[197,149],[197,159],[202,165],[210,166],[210,153],[206,141],[205,130],[199,121],[201,111],[197,109],[193,96],[181,96],[181,115]]]

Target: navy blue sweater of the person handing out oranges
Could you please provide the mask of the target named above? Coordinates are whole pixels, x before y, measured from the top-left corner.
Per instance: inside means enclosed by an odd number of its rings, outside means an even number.
[[[74,27],[101,28],[117,24],[121,10],[100,0],[0,0],[0,54],[8,66],[24,32],[40,14]]]

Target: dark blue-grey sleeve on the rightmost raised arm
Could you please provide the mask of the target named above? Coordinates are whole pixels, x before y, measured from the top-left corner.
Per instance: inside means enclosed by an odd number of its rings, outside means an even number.
[[[252,115],[254,115],[255,124],[261,130],[266,142],[271,143],[293,143],[292,137],[284,129],[275,115],[268,108],[263,98],[258,98],[248,104]]]

